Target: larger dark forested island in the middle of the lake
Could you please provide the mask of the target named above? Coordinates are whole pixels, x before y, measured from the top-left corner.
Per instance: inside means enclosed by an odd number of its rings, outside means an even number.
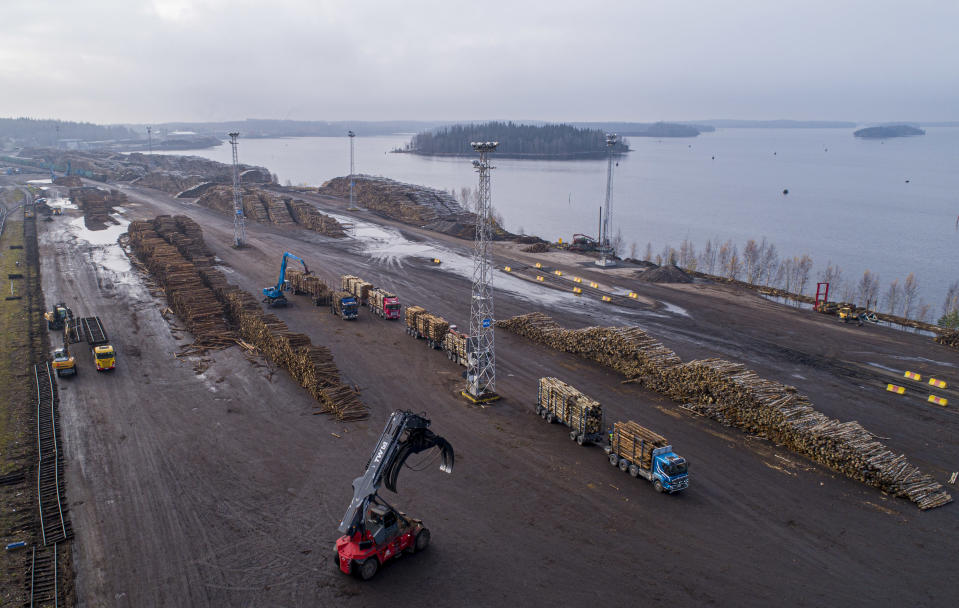
[[[424,156],[475,156],[474,141],[496,141],[496,156],[505,158],[581,159],[603,158],[608,153],[606,133],[572,125],[521,125],[513,122],[487,122],[442,127],[422,131],[394,152]],[[614,154],[629,152],[629,142],[618,139]]]

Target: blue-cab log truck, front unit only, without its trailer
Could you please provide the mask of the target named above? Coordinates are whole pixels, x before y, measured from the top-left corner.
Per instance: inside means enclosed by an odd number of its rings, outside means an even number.
[[[605,447],[609,464],[633,477],[642,477],[657,492],[689,487],[689,463],[673,452],[666,438],[630,420],[617,422]]]

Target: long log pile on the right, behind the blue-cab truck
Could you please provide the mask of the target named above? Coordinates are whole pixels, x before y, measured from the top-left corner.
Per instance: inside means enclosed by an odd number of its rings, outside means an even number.
[[[499,321],[497,326],[612,367],[627,382],[641,383],[724,424],[908,498],[920,509],[952,501],[939,482],[909,464],[904,455],[897,456],[858,422],[829,418],[794,387],[760,378],[741,364],[722,359],[683,363],[638,328],[568,330],[542,313]]]

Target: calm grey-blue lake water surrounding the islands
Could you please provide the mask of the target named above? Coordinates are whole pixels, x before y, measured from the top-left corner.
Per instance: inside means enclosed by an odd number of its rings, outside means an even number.
[[[356,172],[447,191],[476,187],[471,159],[389,153],[408,140],[357,137]],[[959,278],[959,128],[885,141],[847,129],[717,129],[692,139],[629,141],[633,152],[614,168],[612,212],[627,254],[632,243],[641,256],[647,242],[654,252],[678,248],[684,238],[697,250],[707,239],[732,239],[741,249],[747,239],[766,237],[781,256],[809,254],[816,271],[838,264],[850,284],[869,269],[884,290],[914,272],[936,318]],[[228,144],[182,153],[232,160]],[[509,230],[550,240],[596,234],[605,160],[492,157],[493,206]],[[318,185],[349,174],[349,139],[241,135],[239,158],[268,167],[282,183]]]

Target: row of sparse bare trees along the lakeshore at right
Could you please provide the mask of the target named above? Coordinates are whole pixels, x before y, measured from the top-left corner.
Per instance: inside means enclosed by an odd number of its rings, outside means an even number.
[[[617,244],[621,249],[619,237],[614,241],[614,245]],[[636,257],[635,243],[630,247],[629,257]],[[923,322],[930,321],[937,314],[934,307],[920,296],[919,281],[914,273],[910,272],[902,281],[894,279],[883,287],[877,273],[867,269],[858,279],[848,279],[839,265],[830,260],[813,281],[813,260],[809,254],[782,257],[776,245],[765,238],[759,241],[749,239],[742,249],[731,239],[725,242],[710,239],[699,251],[689,239],[683,239],[678,249],[666,245],[658,253],[653,252],[652,243],[647,243],[643,260],[659,266],[673,264],[688,271],[800,295],[814,295],[816,282],[829,283],[833,301]],[[949,286],[938,314],[940,326],[959,328],[959,281]]]

